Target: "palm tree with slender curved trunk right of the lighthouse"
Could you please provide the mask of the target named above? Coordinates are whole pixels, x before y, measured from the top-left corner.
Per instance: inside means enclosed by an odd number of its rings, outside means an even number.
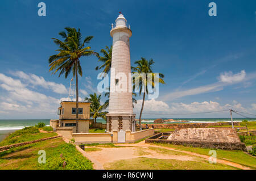
[[[151,86],[153,89],[155,88],[155,82],[154,82],[154,77],[155,77],[155,73],[153,73],[152,71],[152,64],[154,64],[154,61],[152,60],[152,58],[150,59],[150,61],[147,61],[146,58],[141,58],[141,60],[135,61],[134,64],[137,64],[137,67],[131,67],[131,69],[133,70],[133,73],[145,73],[146,76],[143,78],[138,77],[137,80],[134,80],[133,82],[134,84],[134,89],[135,87],[137,87],[137,89],[139,89],[139,95],[141,95],[142,92],[142,87],[144,88],[143,91],[143,100],[142,100],[142,107],[141,107],[141,112],[139,113],[139,128],[141,129],[141,116],[142,116],[142,111],[143,111],[143,107],[144,107],[144,101],[145,101],[145,95],[146,93],[148,94],[148,86]],[[147,85],[148,83],[148,75],[147,73],[152,73],[152,81],[149,82],[150,85]],[[163,81],[164,75],[159,73],[159,82],[160,83],[165,83]]]

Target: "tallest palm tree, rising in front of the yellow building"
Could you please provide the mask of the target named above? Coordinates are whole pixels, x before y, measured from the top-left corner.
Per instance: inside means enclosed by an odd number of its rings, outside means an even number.
[[[60,71],[61,74],[65,73],[65,78],[68,77],[71,71],[73,77],[76,77],[76,132],[78,132],[78,107],[79,107],[79,88],[78,88],[78,73],[82,76],[82,68],[80,65],[80,58],[84,56],[98,55],[98,53],[90,50],[90,47],[85,47],[85,44],[92,40],[93,36],[87,36],[82,40],[80,29],[65,28],[65,31],[61,31],[59,35],[64,38],[64,41],[52,38],[54,43],[59,46],[56,51],[58,54],[54,54],[49,57],[49,71],[53,71],[55,74]]]

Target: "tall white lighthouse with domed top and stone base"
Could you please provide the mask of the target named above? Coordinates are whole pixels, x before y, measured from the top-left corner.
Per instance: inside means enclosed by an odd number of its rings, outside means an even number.
[[[109,113],[107,131],[135,131],[135,114],[131,92],[130,25],[121,14],[112,24],[112,65],[110,70]]]

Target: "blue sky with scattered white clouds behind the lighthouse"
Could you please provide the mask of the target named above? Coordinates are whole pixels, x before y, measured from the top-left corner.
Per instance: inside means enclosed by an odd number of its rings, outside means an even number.
[[[38,16],[38,3],[46,16]],[[217,16],[208,4],[216,2]],[[131,62],[142,56],[165,75],[146,113],[234,110],[256,113],[255,1],[1,1],[0,119],[51,119],[69,81],[48,72],[51,37],[64,27],[94,36],[97,52],[112,44],[110,25],[122,11],[131,24]],[[80,96],[97,90],[96,57],[82,58]],[[134,112],[139,112],[141,97]],[[104,101],[104,99],[102,99]],[[138,114],[137,114],[138,116]],[[228,112],[160,117],[228,117]],[[240,117],[240,116],[238,116]]]

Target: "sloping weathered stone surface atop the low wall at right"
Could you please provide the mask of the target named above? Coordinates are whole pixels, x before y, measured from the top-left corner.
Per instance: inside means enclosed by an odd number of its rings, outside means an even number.
[[[241,142],[236,131],[232,128],[184,128],[174,131],[168,140]]]

